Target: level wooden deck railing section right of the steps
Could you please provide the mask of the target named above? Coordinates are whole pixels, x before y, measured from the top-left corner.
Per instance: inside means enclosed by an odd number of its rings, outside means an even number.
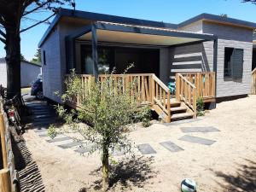
[[[185,79],[196,87],[196,96],[202,97],[204,102],[215,101],[215,73],[181,73]]]

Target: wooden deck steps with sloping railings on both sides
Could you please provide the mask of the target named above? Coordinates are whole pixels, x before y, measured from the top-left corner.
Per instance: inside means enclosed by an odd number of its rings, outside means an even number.
[[[181,77],[183,76],[181,75]],[[166,84],[161,82],[160,79],[158,79],[155,75],[152,77],[151,90],[153,102],[151,108],[156,113],[158,113],[159,119],[166,123],[169,123],[173,120],[196,117],[196,103],[193,102],[193,100],[196,101],[195,86],[185,78],[177,80],[181,82],[180,85],[182,86],[178,87],[177,89],[178,96],[171,99],[170,90]],[[192,88],[189,88],[191,85]],[[177,86],[179,85],[177,84]]]

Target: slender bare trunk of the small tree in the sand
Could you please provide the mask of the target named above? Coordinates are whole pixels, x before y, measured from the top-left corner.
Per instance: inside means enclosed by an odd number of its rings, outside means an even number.
[[[109,187],[109,162],[108,147],[102,149],[102,189],[107,191]]]

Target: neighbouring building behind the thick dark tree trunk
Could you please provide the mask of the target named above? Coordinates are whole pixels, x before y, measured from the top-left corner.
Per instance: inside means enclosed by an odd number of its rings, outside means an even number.
[[[41,73],[41,66],[28,61],[20,62],[20,78],[21,87],[29,87],[33,80],[37,79]],[[0,84],[7,86],[6,62],[4,58],[0,58]]]

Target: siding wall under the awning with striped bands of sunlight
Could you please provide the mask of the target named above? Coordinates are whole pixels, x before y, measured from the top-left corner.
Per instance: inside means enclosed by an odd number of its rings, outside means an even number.
[[[175,81],[176,73],[210,72],[213,67],[213,42],[160,49],[160,79]]]

